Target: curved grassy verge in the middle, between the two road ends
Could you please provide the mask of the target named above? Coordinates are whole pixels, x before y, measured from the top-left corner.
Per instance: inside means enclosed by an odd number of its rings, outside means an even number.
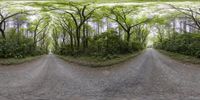
[[[124,54],[124,55],[115,55],[114,57],[112,57],[110,59],[102,58],[102,57],[94,57],[94,56],[73,57],[73,56],[58,55],[58,57],[63,60],[66,60],[68,62],[83,65],[83,66],[104,67],[104,66],[111,66],[111,65],[118,64],[118,63],[124,62],[126,60],[129,60],[129,59],[141,54],[141,52],[142,51]]]

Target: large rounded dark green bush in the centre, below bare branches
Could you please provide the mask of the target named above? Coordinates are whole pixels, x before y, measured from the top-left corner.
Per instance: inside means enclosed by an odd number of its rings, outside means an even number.
[[[105,56],[107,54],[126,53],[128,45],[122,40],[119,34],[114,30],[108,30],[97,35],[91,40],[91,49],[96,53]]]

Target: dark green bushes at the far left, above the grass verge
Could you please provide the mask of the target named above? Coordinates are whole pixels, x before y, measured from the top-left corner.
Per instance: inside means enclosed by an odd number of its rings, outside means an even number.
[[[24,58],[46,52],[43,48],[33,48],[32,38],[16,33],[14,29],[6,34],[7,39],[0,38],[0,58]]]

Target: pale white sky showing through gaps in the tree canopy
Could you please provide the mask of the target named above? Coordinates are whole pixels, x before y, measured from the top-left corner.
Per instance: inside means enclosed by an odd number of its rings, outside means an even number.
[[[40,8],[38,7],[32,7],[32,6],[24,6],[21,5],[23,3],[27,3],[27,2],[33,2],[33,1],[12,1],[12,3],[16,3],[16,5],[14,5],[14,7],[16,9],[26,9],[26,10],[40,10]],[[47,1],[36,1],[36,2],[47,2]],[[3,4],[6,4],[7,2],[2,2]],[[11,1],[9,2],[11,3]],[[135,5],[140,5],[141,8],[139,10],[139,13],[137,13],[137,15],[133,15],[133,19],[137,19],[140,17],[144,17],[146,16],[147,18],[152,18],[154,16],[166,16],[170,13],[173,13],[175,10],[171,9],[169,7],[168,4],[173,4],[173,5],[177,5],[177,6],[181,6],[181,7],[198,7],[200,4],[197,2],[127,2],[127,3],[92,3],[92,5],[94,6],[116,6],[116,5],[124,5],[124,6],[135,6]],[[53,2],[52,2],[53,5]],[[31,21],[34,21],[35,19],[37,19],[37,15],[32,15],[29,16]],[[105,23],[104,23],[105,24]],[[93,26],[93,29],[97,28],[96,23],[93,22],[89,22],[89,25]],[[112,28],[117,27],[116,23],[109,23],[109,26],[111,26]],[[180,24],[179,21],[176,20],[176,30],[178,30],[178,28],[180,28]],[[103,27],[101,27],[100,31],[101,32],[105,32],[107,29],[106,25],[103,25]],[[189,30],[189,28],[187,27],[187,30]],[[151,28],[150,29],[150,37],[155,36],[156,35],[157,30],[155,28]],[[151,44],[151,43],[150,43]]]

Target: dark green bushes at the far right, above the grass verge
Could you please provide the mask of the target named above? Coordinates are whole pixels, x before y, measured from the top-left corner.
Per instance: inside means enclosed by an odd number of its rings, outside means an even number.
[[[200,34],[177,34],[175,38],[164,38],[155,43],[156,48],[200,58]]]

